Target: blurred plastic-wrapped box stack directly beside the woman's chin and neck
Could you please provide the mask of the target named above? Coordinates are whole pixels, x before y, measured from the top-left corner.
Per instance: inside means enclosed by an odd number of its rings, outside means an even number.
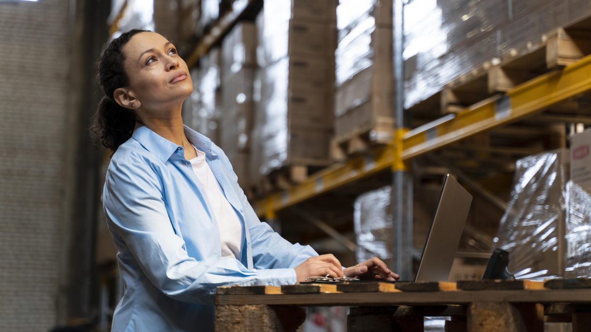
[[[193,93],[183,104],[183,122],[214,142],[219,141],[219,48],[212,48],[200,59],[200,66],[191,69]]]

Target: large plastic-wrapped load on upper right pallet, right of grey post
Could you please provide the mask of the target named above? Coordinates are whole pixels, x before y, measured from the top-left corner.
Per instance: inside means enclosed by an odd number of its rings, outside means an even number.
[[[410,1],[404,6],[404,106],[589,15],[591,5],[579,0]]]

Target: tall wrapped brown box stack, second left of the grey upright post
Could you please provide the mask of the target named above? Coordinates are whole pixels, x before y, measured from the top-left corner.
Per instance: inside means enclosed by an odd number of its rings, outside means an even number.
[[[258,31],[251,177],[326,164],[332,135],[335,0],[265,1]]]

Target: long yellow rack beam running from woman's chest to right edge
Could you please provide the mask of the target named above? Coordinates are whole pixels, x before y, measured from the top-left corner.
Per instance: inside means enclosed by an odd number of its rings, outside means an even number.
[[[403,170],[411,159],[442,148],[469,136],[497,126],[540,113],[591,90],[591,57],[552,71],[492,97],[457,115],[427,123],[412,131],[400,130],[394,141],[364,157],[352,158],[345,164],[311,176],[287,190],[274,193],[254,203],[259,216],[272,218],[286,207],[319,196],[342,185],[360,181],[375,172]]]

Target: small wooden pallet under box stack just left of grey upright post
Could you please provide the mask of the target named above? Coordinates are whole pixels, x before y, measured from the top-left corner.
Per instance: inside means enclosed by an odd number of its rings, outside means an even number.
[[[368,154],[372,149],[390,144],[393,139],[394,118],[382,118],[374,125],[333,137],[330,141],[330,158],[343,161],[355,155]]]

